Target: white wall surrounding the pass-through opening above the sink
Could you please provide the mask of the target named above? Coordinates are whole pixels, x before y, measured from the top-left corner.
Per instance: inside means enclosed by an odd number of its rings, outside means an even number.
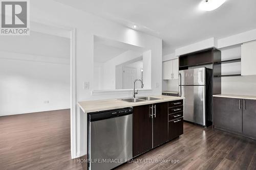
[[[89,101],[110,98],[126,98],[132,96],[132,91],[113,93],[100,93],[91,95],[90,89],[83,89],[83,82],[93,84],[93,46],[94,35],[106,37],[112,40],[145,47],[151,49],[152,90],[139,91],[139,95],[161,94],[162,87],[162,40],[130,28],[118,25],[115,22],[93,16],[66,5],[51,0],[33,0],[31,5],[31,20],[52,23],[53,25],[68,28],[76,28],[76,100]],[[150,63],[151,64],[151,63]],[[158,86],[157,86],[158,85]],[[87,116],[79,114],[77,107],[77,156],[87,153]],[[79,140],[80,135],[80,140]],[[80,146],[80,148],[79,148]]]

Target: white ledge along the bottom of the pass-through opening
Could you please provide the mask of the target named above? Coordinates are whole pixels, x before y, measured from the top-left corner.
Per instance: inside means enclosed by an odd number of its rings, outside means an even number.
[[[152,89],[136,89],[140,93],[152,92]],[[91,95],[110,95],[110,94],[131,94],[133,89],[113,89],[113,90],[92,90]]]

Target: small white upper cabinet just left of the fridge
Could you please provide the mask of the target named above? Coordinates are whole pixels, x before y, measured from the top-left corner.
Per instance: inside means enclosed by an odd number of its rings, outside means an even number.
[[[163,80],[178,79],[179,59],[163,62]]]

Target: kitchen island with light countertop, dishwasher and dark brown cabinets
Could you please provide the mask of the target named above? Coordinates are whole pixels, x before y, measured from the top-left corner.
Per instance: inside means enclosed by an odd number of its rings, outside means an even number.
[[[78,103],[87,114],[89,169],[112,169],[183,134],[184,98],[150,97],[151,101],[140,102]],[[95,163],[94,159],[119,161]]]

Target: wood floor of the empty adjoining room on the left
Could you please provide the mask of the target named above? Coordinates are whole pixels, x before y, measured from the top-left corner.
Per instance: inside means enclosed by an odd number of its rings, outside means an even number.
[[[70,152],[70,110],[0,117],[0,169],[82,169]]]

